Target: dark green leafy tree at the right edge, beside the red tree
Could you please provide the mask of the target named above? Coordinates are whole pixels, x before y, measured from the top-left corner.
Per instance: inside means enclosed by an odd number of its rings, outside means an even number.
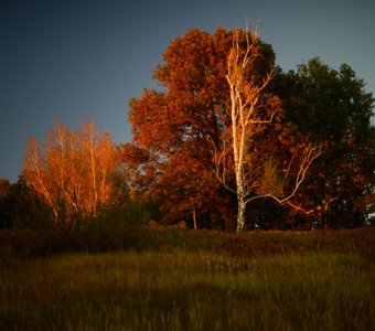
[[[324,146],[299,199],[321,226],[361,225],[375,205],[373,95],[347,64],[335,71],[319,57],[277,79],[288,120]]]

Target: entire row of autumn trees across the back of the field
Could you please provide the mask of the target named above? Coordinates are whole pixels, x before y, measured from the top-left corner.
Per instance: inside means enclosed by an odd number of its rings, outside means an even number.
[[[373,95],[347,64],[314,57],[285,73],[275,58],[256,31],[175,39],[153,74],[160,89],[129,103],[133,140],[55,122],[30,140],[19,182],[1,181],[1,227],[373,223]]]

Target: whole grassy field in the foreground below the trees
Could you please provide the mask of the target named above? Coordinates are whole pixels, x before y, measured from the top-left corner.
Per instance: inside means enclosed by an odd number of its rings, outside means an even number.
[[[0,330],[375,330],[373,238],[174,233],[158,249],[3,255]]]

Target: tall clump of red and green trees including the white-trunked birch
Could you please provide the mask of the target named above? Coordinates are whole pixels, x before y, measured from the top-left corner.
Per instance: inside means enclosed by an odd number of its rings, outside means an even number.
[[[193,29],[172,41],[153,74],[161,88],[130,100],[132,185],[160,201],[165,222],[197,227],[366,223],[373,95],[347,64],[314,57],[283,73],[256,34]]]

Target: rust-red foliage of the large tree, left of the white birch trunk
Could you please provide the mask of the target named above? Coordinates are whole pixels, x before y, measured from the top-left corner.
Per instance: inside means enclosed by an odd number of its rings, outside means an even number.
[[[229,125],[225,75],[231,46],[232,32],[222,28],[213,35],[192,29],[175,39],[154,72],[162,88],[144,89],[129,103],[133,141],[124,147],[133,185],[144,197],[162,201],[173,217],[194,211],[224,217],[227,229],[233,227],[235,196],[216,179],[215,147]],[[257,75],[275,60],[267,44],[260,53]]]

